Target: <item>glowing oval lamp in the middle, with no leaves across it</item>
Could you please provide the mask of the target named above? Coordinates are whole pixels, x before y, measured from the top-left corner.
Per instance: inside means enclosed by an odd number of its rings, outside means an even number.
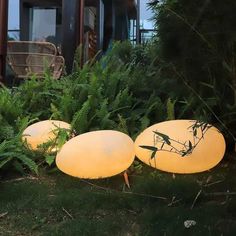
[[[101,130],[69,140],[56,157],[64,173],[86,179],[106,178],[125,171],[134,161],[134,143],[126,134]]]

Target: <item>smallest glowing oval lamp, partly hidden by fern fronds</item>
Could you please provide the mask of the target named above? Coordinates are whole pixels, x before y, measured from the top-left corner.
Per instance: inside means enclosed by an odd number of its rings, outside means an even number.
[[[59,129],[70,129],[70,124],[59,120],[44,120],[34,123],[27,127],[23,134],[22,140],[26,141],[29,148],[39,150],[43,145],[57,137]],[[56,147],[50,147],[49,151],[56,151]]]

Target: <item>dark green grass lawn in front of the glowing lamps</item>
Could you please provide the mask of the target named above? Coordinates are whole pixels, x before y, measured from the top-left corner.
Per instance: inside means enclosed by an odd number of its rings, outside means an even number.
[[[0,235],[236,235],[236,161],[172,175],[144,167],[80,180],[61,172],[0,182]],[[186,220],[196,225],[185,228]]]

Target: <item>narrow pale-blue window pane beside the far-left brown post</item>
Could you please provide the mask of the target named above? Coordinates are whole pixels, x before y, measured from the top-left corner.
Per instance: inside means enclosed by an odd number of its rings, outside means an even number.
[[[20,7],[19,0],[9,0],[8,39],[20,39]]]

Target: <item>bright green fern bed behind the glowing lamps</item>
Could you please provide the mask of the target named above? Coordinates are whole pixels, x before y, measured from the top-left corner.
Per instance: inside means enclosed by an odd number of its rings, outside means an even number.
[[[0,89],[0,168],[27,167],[37,173],[37,163],[50,159],[51,165],[51,156],[32,153],[22,144],[21,133],[32,122],[59,119],[69,122],[77,135],[114,129],[135,137],[173,116],[172,100],[160,97],[151,51],[151,46],[116,43],[100,61],[76,67],[60,80],[46,75]]]

